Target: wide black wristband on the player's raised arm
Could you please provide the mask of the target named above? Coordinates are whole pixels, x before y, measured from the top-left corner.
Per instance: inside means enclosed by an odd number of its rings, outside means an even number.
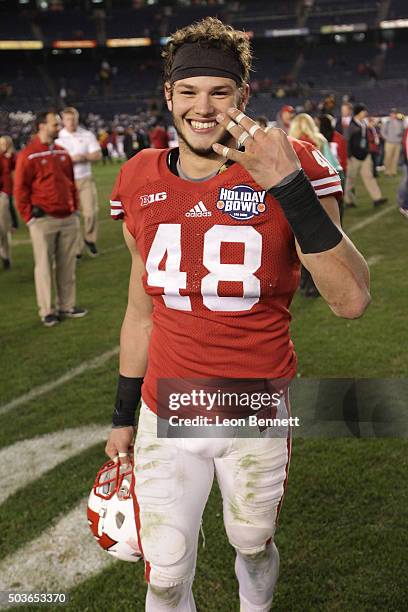
[[[287,185],[272,187],[268,193],[281,205],[302,253],[328,251],[343,238],[339,228],[320,204],[303,170]]]

